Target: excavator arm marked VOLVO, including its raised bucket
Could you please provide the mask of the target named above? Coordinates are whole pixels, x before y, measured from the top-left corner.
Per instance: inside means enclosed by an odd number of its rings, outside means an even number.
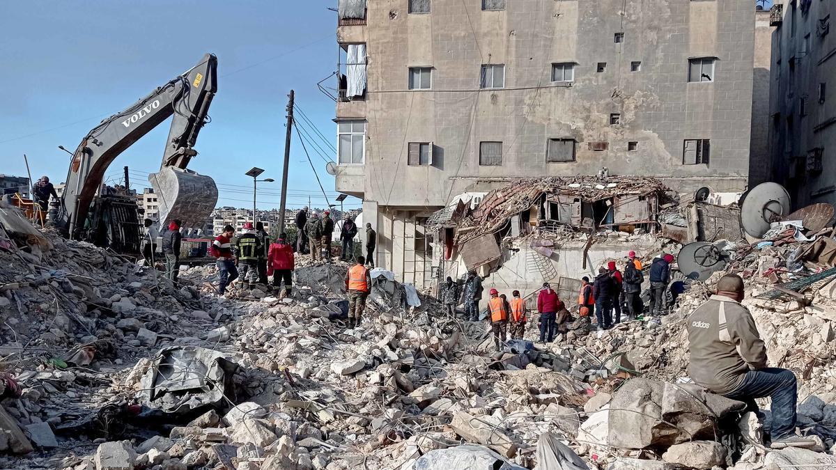
[[[158,222],[165,227],[168,220],[179,218],[183,227],[202,227],[217,202],[217,186],[212,178],[186,170],[186,166],[197,155],[192,147],[209,120],[209,105],[216,91],[217,58],[206,54],[186,73],[90,130],[69,166],[59,226],[71,236],[84,227],[110,163],[173,115],[160,171],[149,176],[160,202]]]

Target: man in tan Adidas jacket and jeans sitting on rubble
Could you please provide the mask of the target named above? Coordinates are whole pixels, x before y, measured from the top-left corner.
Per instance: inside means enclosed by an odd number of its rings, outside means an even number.
[[[747,411],[757,411],[756,398],[771,397],[771,447],[813,447],[815,442],[795,435],[795,375],[766,366],[767,349],[752,314],[740,304],[743,297],[743,279],[726,274],[716,294],[691,314],[691,378],[718,395],[746,402]]]

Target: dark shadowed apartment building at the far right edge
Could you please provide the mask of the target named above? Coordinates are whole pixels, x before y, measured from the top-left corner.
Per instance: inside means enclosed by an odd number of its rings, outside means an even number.
[[[772,176],[795,207],[836,204],[833,14],[832,1],[775,0],[772,6]]]

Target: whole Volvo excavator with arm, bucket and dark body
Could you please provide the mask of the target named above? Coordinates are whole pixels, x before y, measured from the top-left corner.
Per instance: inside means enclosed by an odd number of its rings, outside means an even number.
[[[105,194],[102,178],[116,156],[170,116],[171,130],[160,171],[148,176],[160,202],[155,223],[202,228],[217,202],[209,176],[187,170],[197,152],[201,127],[217,92],[217,58],[206,54],[186,73],[162,85],[135,105],[103,120],[73,154],[56,225],[72,238],[108,246],[119,253],[139,253],[140,221],[133,197]]]

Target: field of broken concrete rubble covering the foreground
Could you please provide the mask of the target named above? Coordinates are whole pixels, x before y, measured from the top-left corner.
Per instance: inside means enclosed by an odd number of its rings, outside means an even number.
[[[829,228],[724,245],[722,268],[661,319],[534,345],[534,314],[525,340],[496,353],[487,324],[446,316],[385,271],[364,324],[346,330],[343,263],[300,259],[293,298],[219,297],[212,266],[174,286],[0,216],[0,467],[836,466]],[[769,364],[798,376],[814,451],[769,451],[757,416],[688,383],[687,315],[726,272],[747,279]]]

